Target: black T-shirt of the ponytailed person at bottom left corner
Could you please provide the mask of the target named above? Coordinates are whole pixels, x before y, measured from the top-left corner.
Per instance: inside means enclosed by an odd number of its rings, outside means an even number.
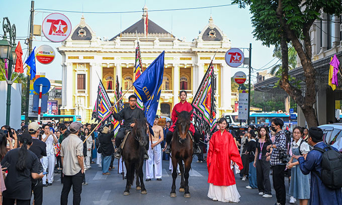
[[[5,179],[6,190],[3,196],[6,198],[16,198],[21,200],[31,199],[31,173],[38,173],[38,158],[27,150],[26,167],[24,171],[17,170],[17,161],[20,148],[10,150],[1,161],[1,164],[9,162],[8,174]]]

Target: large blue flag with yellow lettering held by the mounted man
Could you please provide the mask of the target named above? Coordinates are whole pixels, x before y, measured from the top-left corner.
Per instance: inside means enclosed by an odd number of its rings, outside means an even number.
[[[164,51],[150,66],[133,82],[135,90],[140,94],[144,103],[144,113],[147,122],[153,125],[159,104],[161,83],[164,74]]]

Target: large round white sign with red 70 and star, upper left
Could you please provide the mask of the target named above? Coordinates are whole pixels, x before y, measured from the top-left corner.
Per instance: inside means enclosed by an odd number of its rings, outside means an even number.
[[[47,16],[43,21],[44,36],[52,42],[65,41],[71,33],[71,23],[69,19],[59,13]]]

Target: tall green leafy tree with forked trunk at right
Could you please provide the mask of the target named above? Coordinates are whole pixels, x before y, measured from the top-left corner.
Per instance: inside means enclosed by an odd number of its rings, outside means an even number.
[[[316,102],[316,70],[311,63],[312,48],[310,27],[320,13],[339,16],[342,13],[340,0],[234,0],[240,8],[249,6],[252,14],[253,35],[263,45],[280,44],[282,56],[282,73],[279,86],[284,89],[301,108],[309,127],[318,126],[313,105]],[[289,78],[288,43],[292,42],[303,66],[305,94],[291,83]]]

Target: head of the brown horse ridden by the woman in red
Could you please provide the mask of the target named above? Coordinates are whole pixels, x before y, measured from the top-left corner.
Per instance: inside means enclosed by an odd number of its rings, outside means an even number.
[[[176,114],[178,116],[176,126],[178,129],[179,142],[181,144],[187,140],[187,134],[190,129],[192,113],[193,111],[190,111],[190,113],[187,111],[182,111],[181,113],[176,111]]]

